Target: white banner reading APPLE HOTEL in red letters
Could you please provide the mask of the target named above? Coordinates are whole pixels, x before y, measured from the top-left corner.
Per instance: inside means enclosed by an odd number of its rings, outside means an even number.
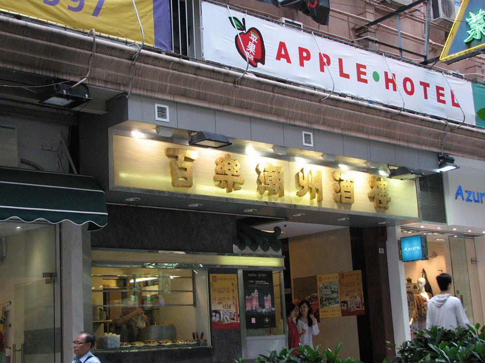
[[[202,26],[208,61],[245,69],[247,54],[253,72],[459,122],[460,105],[475,124],[469,81],[207,2]]]

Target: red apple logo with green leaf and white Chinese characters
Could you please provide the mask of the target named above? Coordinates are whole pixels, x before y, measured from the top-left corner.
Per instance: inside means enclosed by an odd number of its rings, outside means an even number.
[[[258,63],[264,64],[264,42],[261,32],[256,28],[249,28],[246,31],[246,21],[242,18],[242,22],[236,17],[229,17],[231,25],[238,30],[238,34],[234,38],[236,49],[241,55],[242,59],[249,61],[253,67],[257,67]]]

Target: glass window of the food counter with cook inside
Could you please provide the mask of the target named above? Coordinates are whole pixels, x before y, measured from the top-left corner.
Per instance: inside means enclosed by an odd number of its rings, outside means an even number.
[[[206,270],[93,267],[92,285],[95,336],[120,335],[121,348],[210,345]]]

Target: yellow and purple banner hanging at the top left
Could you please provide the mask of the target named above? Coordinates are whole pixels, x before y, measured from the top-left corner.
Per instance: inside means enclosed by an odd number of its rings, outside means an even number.
[[[145,44],[172,49],[169,0],[136,1]],[[142,42],[132,0],[0,0],[0,10],[76,30]]]

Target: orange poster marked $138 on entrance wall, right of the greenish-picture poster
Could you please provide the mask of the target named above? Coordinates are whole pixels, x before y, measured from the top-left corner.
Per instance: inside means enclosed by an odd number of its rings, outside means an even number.
[[[342,317],[364,315],[364,293],[362,291],[361,271],[340,272],[339,286]]]

